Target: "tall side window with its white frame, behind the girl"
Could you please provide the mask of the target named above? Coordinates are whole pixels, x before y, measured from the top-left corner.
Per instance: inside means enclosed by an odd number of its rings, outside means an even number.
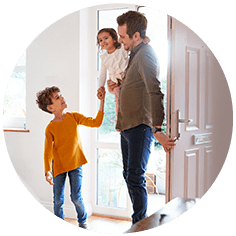
[[[102,28],[113,28],[117,31],[116,18],[134,10],[135,5],[130,4],[106,4],[96,9],[97,32]],[[97,82],[101,69],[100,54],[96,47],[96,74]],[[109,78],[107,76],[107,78]],[[98,87],[98,83],[97,86]],[[97,129],[95,137],[95,175],[93,212],[104,215],[113,215],[129,218],[132,214],[132,206],[128,197],[126,183],[123,178],[123,163],[120,149],[120,133],[116,131],[115,96],[106,88],[105,116],[102,126]],[[96,100],[98,101],[98,100]],[[98,104],[100,102],[98,101]],[[98,109],[99,106],[97,106]],[[95,134],[95,133],[94,133]]]

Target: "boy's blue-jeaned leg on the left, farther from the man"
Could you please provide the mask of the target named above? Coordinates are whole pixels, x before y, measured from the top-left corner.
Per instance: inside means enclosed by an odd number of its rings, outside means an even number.
[[[64,198],[65,180],[66,180],[66,173],[62,173],[56,177],[53,177],[54,215],[61,218],[62,220],[65,219],[65,215],[63,212],[63,204],[65,201]]]

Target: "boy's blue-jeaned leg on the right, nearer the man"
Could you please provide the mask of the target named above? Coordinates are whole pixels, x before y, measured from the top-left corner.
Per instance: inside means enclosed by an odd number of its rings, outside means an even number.
[[[82,187],[82,166],[79,168],[69,171],[68,176],[70,179],[70,188],[71,188],[71,201],[74,203],[77,218],[79,223],[85,223],[87,220],[87,212],[84,207],[84,202],[81,193]]]

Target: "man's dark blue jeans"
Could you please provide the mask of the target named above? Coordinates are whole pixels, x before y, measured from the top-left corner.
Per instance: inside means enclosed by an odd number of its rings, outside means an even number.
[[[133,204],[133,224],[147,216],[145,172],[152,141],[152,129],[144,124],[121,131],[123,175]]]

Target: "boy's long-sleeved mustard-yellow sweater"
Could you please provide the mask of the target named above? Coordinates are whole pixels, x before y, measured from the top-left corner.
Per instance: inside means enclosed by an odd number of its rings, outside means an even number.
[[[104,113],[98,111],[95,119],[76,112],[67,112],[62,121],[50,122],[45,130],[44,165],[45,174],[50,171],[54,177],[87,163],[78,125],[100,127]]]

